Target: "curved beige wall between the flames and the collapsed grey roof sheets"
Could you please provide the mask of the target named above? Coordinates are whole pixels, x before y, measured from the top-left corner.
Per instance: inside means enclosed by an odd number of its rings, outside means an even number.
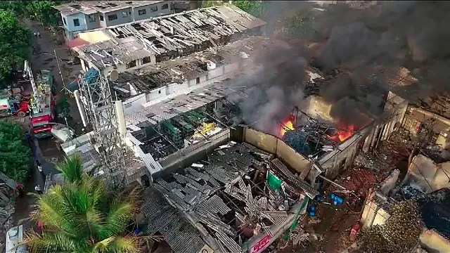
[[[302,172],[309,165],[309,160],[306,157],[295,152],[293,148],[290,148],[288,144],[275,136],[248,128],[244,129],[243,135],[243,141],[276,155],[286,166],[295,169],[298,173]]]

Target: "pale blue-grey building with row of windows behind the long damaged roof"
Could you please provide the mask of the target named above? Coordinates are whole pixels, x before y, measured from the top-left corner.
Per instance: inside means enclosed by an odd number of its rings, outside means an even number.
[[[75,1],[55,8],[67,40],[75,39],[79,32],[173,13],[172,1]]]

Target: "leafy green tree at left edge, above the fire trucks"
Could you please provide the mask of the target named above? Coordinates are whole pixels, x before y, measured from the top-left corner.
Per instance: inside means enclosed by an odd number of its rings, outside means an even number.
[[[11,77],[13,66],[30,54],[31,33],[11,11],[0,10],[0,82]]]

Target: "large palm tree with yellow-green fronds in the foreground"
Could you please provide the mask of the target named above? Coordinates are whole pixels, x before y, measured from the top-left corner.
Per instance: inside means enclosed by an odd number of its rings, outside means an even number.
[[[104,179],[83,172],[82,160],[71,157],[58,165],[65,182],[39,195],[32,221],[44,230],[31,231],[24,245],[34,252],[139,252],[143,240],[127,233],[139,207],[140,188],[113,194]]]

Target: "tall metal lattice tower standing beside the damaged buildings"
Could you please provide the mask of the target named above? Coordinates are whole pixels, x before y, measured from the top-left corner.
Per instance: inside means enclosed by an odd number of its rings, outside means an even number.
[[[91,68],[78,79],[86,117],[94,130],[92,144],[101,154],[102,168],[110,186],[121,188],[128,183],[124,150],[115,103],[111,97],[108,80],[101,72]]]

